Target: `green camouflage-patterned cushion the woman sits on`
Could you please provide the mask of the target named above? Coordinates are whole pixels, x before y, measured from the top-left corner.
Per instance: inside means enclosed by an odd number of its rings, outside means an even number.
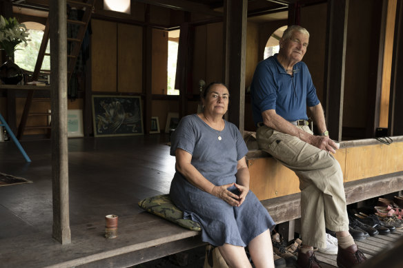
[[[184,212],[181,212],[170,200],[169,194],[161,194],[139,201],[139,207],[146,209],[147,212],[166,218],[173,223],[177,223],[181,227],[188,228],[192,231],[202,231],[199,223],[193,220],[185,220]]]

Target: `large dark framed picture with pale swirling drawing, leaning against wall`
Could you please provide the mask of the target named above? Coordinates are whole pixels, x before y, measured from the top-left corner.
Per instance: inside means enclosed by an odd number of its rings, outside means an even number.
[[[94,136],[143,135],[140,96],[92,95]]]

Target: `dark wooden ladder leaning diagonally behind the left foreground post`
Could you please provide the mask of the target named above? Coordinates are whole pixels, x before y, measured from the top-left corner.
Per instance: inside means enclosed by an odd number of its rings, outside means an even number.
[[[68,42],[72,42],[72,49],[70,50],[70,54],[68,54],[68,56],[67,56],[68,57],[68,74],[67,74],[68,80],[67,81],[70,81],[72,73],[75,69],[77,57],[79,56],[79,52],[81,50],[81,44],[83,43],[83,38],[84,38],[84,36],[86,34],[86,30],[88,28],[88,23],[90,22],[90,19],[91,19],[92,8],[94,7],[95,0],[83,0],[83,1],[66,0],[66,3],[74,8],[85,8],[81,21],[67,19],[67,23],[79,26],[78,32],[77,32],[77,37],[67,39]],[[49,41],[49,28],[50,28],[50,25],[49,25],[49,16],[48,16],[48,19],[46,20],[45,31],[43,32],[41,47],[39,48],[37,63],[35,64],[35,69],[32,74],[32,81],[37,81],[39,78],[39,74],[41,72],[49,72],[48,70],[41,70],[43,58],[45,56],[50,56],[49,53],[46,53],[46,48],[48,46],[48,41]],[[30,125],[30,126],[26,125],[29,116],[50,116],[50,114],[51,114],[50,112],[35,112],[35,113],[30,112],[32,102],[35,101],[34,93],[35,93],[35,90],[28,91],[26,103],[25,103],[25,106],[23,109],[23,114],[21,116],[21,121],[19,123],[18,132],[17,132],[17,138],[19,140],[21,140],[21,137],[23,136],[23,132],[25,130],[46,129],[46,130],[48,130],[48,133],[50,133],[50,129],[51,129],[50,125]],[[45,101],[45,99],[40,99],[39,101]],[[50,101],[50,99],[48,99],[48,101]]]

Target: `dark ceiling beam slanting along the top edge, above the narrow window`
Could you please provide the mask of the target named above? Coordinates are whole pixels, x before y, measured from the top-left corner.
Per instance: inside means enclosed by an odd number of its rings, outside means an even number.
[[[222,17],[222,12],[215,11],[203,3],[184,0],[137,0],[140,3],[149,3],[154,6],[161,6],[174,10],[204,13],[214,17]]]

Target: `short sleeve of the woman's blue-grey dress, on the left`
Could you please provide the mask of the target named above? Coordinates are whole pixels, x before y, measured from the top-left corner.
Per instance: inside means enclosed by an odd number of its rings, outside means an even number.
[[[178,148],[193,155],[196,142],[195,124],[193,120],[192,116],[185,116],[179,121],[170,139],[171,156],[175,156],[175,152]]]

